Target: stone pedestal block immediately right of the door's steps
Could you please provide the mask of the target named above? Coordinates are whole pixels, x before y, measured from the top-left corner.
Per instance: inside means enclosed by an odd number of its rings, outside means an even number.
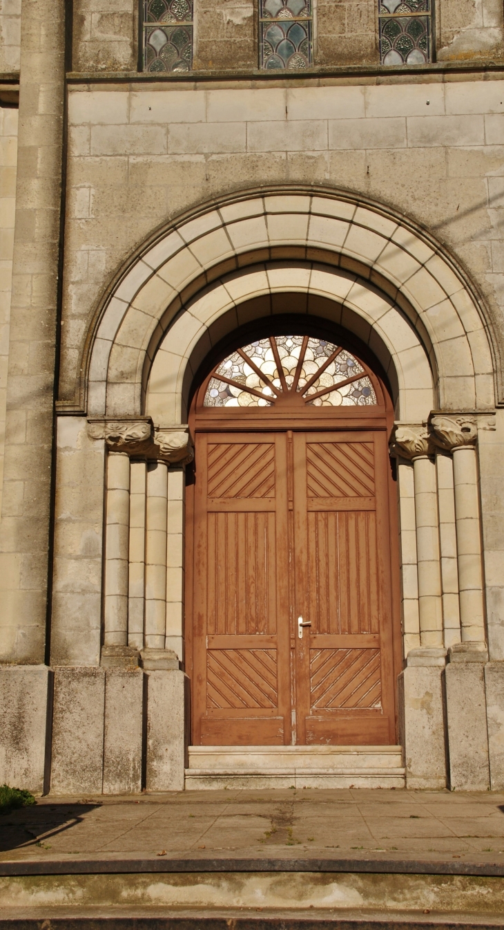
[[[398,677],[400,741],[407,788],[446,788],[442,649],[413,649]]]

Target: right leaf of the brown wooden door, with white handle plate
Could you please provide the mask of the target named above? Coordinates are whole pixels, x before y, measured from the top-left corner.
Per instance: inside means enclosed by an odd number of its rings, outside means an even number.
[[[394,743],[383,432],[294,433],[296,741]]]

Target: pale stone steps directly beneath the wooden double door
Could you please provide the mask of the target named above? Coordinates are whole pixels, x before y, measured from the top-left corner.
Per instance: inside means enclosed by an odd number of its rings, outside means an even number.
[[[401,746],[190,746],[186,788],[404,788]]]

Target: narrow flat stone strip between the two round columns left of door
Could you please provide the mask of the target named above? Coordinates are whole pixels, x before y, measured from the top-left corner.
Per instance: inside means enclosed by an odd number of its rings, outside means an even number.
[[[147,465],[132,462],[130,472],[130,569],[128,645],[144,647],[145,531]]]

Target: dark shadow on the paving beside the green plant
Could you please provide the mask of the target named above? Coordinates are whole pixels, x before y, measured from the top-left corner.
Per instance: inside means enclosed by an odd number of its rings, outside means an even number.
[[[84,815],[99,806],[98,801],[71,801],[11,811],[0,817],[0,853],[30,846],[49,850],[53,836],[82,823]]]

